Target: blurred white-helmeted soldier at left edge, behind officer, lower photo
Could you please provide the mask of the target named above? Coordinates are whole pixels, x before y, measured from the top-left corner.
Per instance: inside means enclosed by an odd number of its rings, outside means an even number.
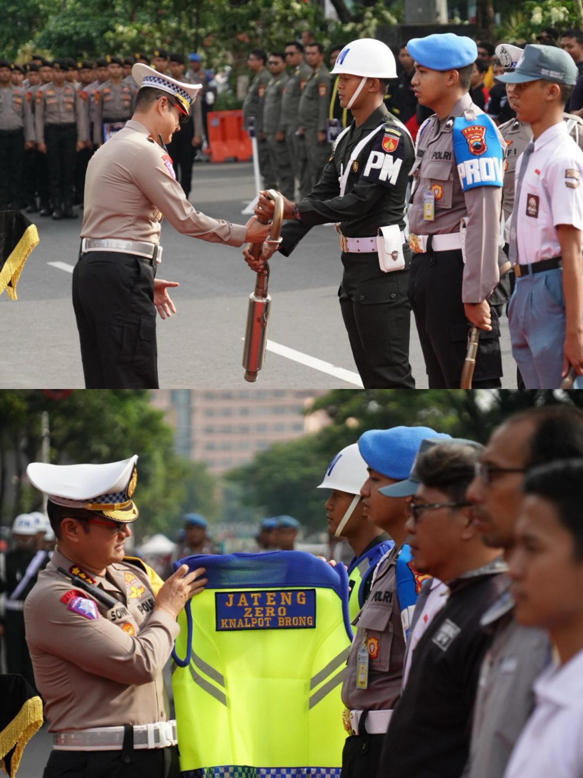
[[[13,547],[5,554],[0,567],[0,593],[5,595],[0,634],[4,633],[5,637],[6,669],[9,673],[23,675],[32,686],[33,665],[24,636],[23,609],[26,595],[49,560],[47,552],[40,548],[46,530],[40,516],[42,514],[20,513],[16,517],[12,524]]]

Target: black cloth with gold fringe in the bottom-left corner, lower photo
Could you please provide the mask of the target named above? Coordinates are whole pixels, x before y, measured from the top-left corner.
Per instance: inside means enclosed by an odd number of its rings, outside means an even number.
[[[43,725],[43,702],[22,675],[0,675],[0,770],[15,778],[24,747]]]

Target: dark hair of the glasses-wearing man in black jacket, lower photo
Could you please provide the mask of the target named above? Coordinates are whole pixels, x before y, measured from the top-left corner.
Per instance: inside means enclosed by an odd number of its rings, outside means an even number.
[[[417,476],[425,486],[439,489],[452,502],[461,503],[473,481],[481,450],[481,446],[463,443],[437,443],[415,462]]]

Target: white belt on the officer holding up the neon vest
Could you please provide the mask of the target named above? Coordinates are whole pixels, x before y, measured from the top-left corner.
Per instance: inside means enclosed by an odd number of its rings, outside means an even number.
[[[176,745],[176,721],[134,724],[134,749],[168,748]],[[124,727],[94,727],[72,732],[55,732],[55,751],[121,751]]]

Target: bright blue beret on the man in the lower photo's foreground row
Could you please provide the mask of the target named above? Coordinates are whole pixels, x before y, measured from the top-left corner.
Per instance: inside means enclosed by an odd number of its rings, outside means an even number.
[[[358,450],[369,468],[386,478],[404,481],[409,478],[421,440],[450,437],[429,427],[369,429],[358,439]]]

